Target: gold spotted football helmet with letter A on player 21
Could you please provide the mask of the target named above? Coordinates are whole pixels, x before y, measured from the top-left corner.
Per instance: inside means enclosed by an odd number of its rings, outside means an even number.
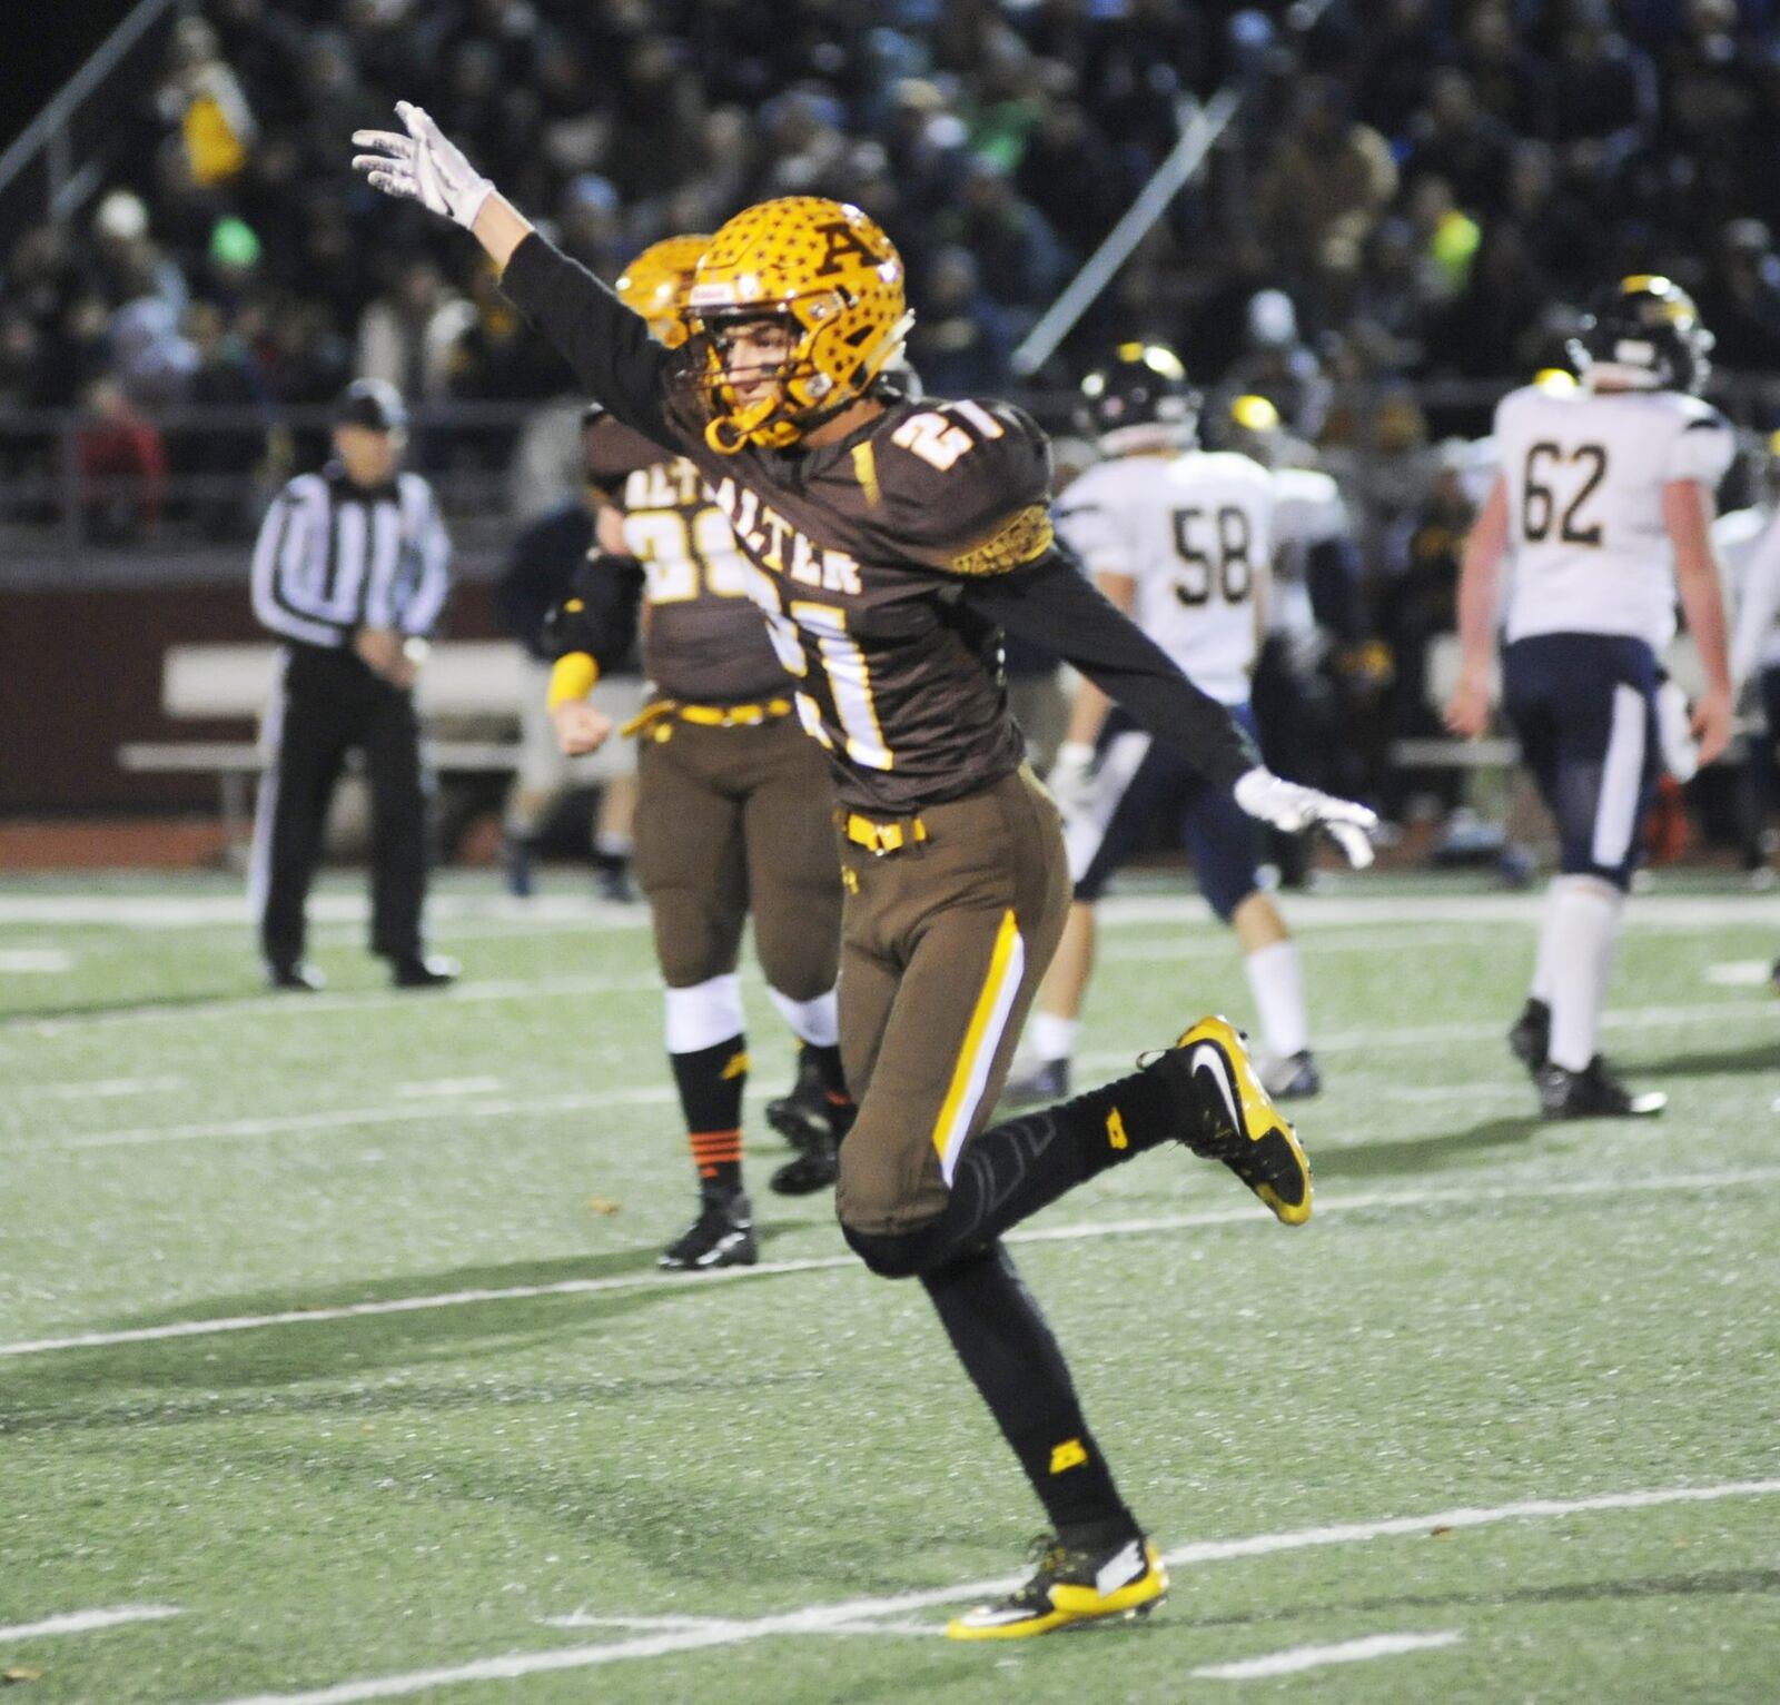
[[[790,351],[771,397],[742,404],[728,383],[724,322],[783,320]],[[687,324],[703,345],[705,440],[785,448],[822,416],[865,395],[902,352],[915,317],[902,294],[902,256],[856,206],[783,196],[744,208],[705,249]],[[694,368],[700,363],[694,356]]]

